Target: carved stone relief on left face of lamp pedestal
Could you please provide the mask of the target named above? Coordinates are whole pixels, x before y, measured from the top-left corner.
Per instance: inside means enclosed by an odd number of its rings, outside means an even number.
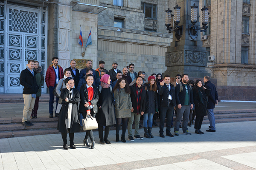
[[[166,66],[183,63],[183,51],[166,52]]]

